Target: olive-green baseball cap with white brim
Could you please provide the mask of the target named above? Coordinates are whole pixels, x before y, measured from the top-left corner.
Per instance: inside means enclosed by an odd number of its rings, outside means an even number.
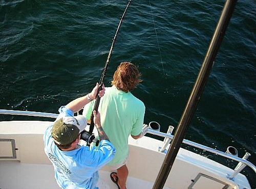
[[[53,124],[53,140],[60,145],[72,143],[86,126],[87,121],[85,116],[62,117]]]

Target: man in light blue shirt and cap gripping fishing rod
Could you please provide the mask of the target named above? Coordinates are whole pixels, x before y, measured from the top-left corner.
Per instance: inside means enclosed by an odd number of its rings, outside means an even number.
[[[114,157],[115,147],[102,129],[100,114],[96,111],[93,114],[100,139],[98,147],[78,144],[87,121],[86,117],[74,116],[74,113],[96,98],[98,87],[97,84],[88,95],[61,106],[59,116],[45,131],[45,153],[54,166],[55,178],[62,188],[98,188],[98,170]],[[104,91],[103,86],[100,97]]]

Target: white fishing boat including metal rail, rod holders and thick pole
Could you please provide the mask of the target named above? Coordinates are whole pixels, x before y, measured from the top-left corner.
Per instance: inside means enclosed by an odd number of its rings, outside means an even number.
[[[254,171],[251,178],[256,178],[256,167],[247,160],[250,156],[248,152],[245,153],[243,158],[240,158],[233,147],[229,147],[225,153],[182,138],[186,127],[189,125],[189,118],[193,115],[197,101],[200,98],[201,89],[205,84],[203,72],[207,70],[207,67],[212,66],[217,53],[216,46],[218,51],[220,41],[215,38],[218,38],[218,35],[223,36],[223,33],[225,33],[222,30],[222,23],[225,27],[225,12],[227,15],[230,14],[228,7],[227,4],[221,15],[217,32],[214,34],[205,62],[174,136],[172,135],[172,126],[169,127],[167,133],[163,133],[158,130],[160,127],[157,122],[151,122],[148,124],[151,126],[148,133],[164,137],[163,141],[146,136],[139,140],[129,138],[130,156],[127,188],[251,188],[247,177],[241,174],[241,171],[248,166]],[[207,76],[207,73],[205,75]],[[0,114],[50,118],[56,118],[57,116],[50,113],[12,110],[0,110]],[[53,166],[44,152],[43,134],[49,124],[51,124],[51,121],[0,122],[0,188],[59,188],[54,178]],[[96,134],[97,131],[95,130],[94,133]],[[231,169],[204,155],[180,148],[179,142],[211,152],[217,156],[232,159],[237,161],[238,165]],[[81,141],[81,144],[84,143],[84,141]],[[175,154],[175,152],[177,153]],[[174,161],[171,162],[170,159]],[[172,169],[170,170],[170,168]],[[110,173],[111,170],[108,166],[99,171],[100,188],[117,188],[110,179]],[[164,176],[162,176],[163,174]],[[161,187],[158,185],[161,185]]]

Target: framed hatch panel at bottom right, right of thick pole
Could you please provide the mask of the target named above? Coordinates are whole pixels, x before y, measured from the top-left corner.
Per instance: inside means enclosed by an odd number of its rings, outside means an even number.
[[[228,186],[229,184],[221,180],[199,173],[188,189],[226,189]]]

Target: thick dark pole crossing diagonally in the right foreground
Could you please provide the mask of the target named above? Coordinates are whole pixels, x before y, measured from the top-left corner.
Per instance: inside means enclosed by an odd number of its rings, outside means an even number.
[[[172,169],[174,160],[178,154],[178,151],[180,149],[180,146],[190,124],[191,118],[195,113],[200,96],[203,92],[204,86],[210,73],[210,69],[214,64],[214,60],[219,50],[221,41],[224,37],[228,22],[230,20],[236,2],[237,0],[227,0],[224,5],[214,35],[212,36],[211,42],[209,44],[208,51],[205,55],[204,62],[198,74],[196,83],[193,87],[193,90],[191,91],[186,107],[180,119],[179,125],[174,134],[174,138],[170,143],[170,147],[167,151],[162,167],[154,183],[153,189],[163,188],[165,181],[169,175],[169,172]]]

